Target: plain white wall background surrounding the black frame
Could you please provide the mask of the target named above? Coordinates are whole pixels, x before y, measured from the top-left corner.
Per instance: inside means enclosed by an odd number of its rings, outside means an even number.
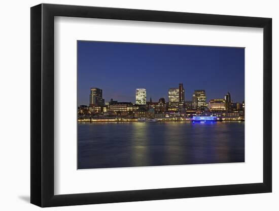
[[[30,172],[30,7],[42,3],[37,0],[5,1],[1,4],[0,45],[0,207],[2,210],[38,210],[29,204]],[[100,7],[165,10],[224,15],[258,16],[273,19],[273,193],[236,196],[203,197],[191,199],[128,202],[70,207],[49,210],[278,210],[279,144],[275,130],[279,118],[274,107],[279,80],[275,73],[275,58],[279,49],[276,35],[279,30],[279,13],[276,1],[163,1],[163,0],[98,0],[98,1],[47,1],[44,3]],[[279,37],[277,35],[277,37]],[[16,114],[16,115],[15,115]],[[276,153],[277,152],[277,153]]]

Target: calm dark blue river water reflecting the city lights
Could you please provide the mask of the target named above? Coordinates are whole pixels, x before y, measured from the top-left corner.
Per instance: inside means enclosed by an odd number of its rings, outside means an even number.
[[[78,124],[78,168],[244,162],[244,122]]]

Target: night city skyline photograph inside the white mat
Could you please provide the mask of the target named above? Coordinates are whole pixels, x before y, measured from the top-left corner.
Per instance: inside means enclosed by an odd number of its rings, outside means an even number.
[[[77,41],[79,170],[245,162],[245,48]]]

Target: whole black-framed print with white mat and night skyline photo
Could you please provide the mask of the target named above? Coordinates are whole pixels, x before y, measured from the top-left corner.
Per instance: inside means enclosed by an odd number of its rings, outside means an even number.
[[[272,190],[271,19],[31,8],[31,203]]]

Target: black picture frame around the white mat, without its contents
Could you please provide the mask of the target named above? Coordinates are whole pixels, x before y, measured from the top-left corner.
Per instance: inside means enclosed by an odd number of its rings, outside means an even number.
[[[54,195],[54,17],[263,28],[263,183]],[[272,190],[271,18],[41,4],[31,8],[31,203],[41,207]]]

